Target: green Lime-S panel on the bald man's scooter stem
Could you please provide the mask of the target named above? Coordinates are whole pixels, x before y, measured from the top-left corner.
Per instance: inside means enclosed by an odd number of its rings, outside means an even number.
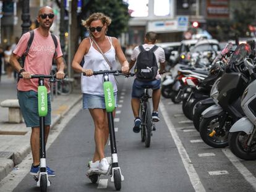
[[[45,117],[48,113],[47,89],[45,86],[38,86],[38,114]]]

